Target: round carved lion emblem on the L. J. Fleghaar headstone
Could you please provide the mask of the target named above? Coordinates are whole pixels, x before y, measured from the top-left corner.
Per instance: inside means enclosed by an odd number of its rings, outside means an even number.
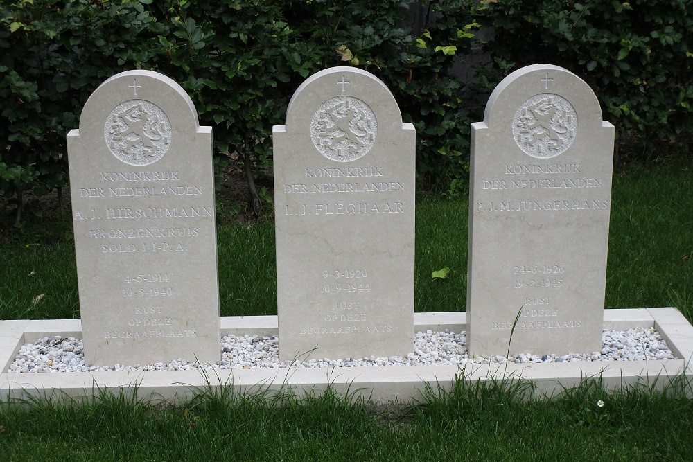
[[[376,143],[378,123],[371,108],[353,96],[326,100],[310,121],[315,148],[328,159],[355,161]]]

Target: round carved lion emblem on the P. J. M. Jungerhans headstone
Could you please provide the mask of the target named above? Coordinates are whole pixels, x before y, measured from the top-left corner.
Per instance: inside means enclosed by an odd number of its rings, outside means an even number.
[[[562,96],[532,96],[515,113],[513,136],[521,150],[538,159],[556,157],[577,134],[577,114]]]

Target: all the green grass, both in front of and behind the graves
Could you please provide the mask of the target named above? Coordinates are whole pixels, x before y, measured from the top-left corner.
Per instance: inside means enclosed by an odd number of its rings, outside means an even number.
[[[615,175],[607,308],[676,305],[693,319],[690,166],[679,159]],[[466,230],[466,198],[419,195],[417,311],[464,310]],[[79,317],[73,246],[51,243],[66,234],[69,219],[46,217],[0,248],[0,319]],[[445,266],[450,277],[433,280]],[[222,315],[276,314],[271,221],[220,225],[218,267]],[[527,399],[528,383],[458,382],[416,405],[382,407],[334,393],[298,400],[224,389],[177,405],[118,391],[87,402],[5,402],[0,461],[689,461],[687,380],[665,392],[606,393],[584,382],[550,400]]]

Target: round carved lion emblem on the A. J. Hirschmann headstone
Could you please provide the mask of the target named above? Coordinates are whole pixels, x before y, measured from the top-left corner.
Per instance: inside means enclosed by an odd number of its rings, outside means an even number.
[[[146,166],[164,157],[171,125],[164,111],[145,100],[128,100],[111,111],[104,128],[106,145],[131,166]]]

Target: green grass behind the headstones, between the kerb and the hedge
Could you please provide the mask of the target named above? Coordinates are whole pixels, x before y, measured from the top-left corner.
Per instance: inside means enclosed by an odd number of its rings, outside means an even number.
[[[615,175],[606,308],[673,305],[693,319],[690,163],[683,158]],[[419,194],[416,312],[466,309],[467,210],[466,197]],[[69,234],[67,214],[60,218],[42,220],[19,241],[0,248],[0,319],[80,317],[73,245],[51,243],[65,242],[60,237]],[[223,221],[217,233],[222,316],[277,314],[273,222]],[[442,267],[450,268],[450,276],[431,278]]]

